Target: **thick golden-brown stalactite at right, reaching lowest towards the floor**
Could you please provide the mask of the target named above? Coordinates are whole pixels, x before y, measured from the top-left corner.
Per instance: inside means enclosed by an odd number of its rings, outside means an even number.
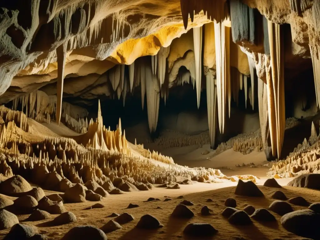
[[[272,153],[275,156],[277,150],[278,158],[281,156],[282,144],[284,140],[285,129],[285,105],[284,105],[284,48],[283,36],[280,25],[274,24],[268,20],[268,34],[270,44],[270,65],[272,78],[268,81],[268,109],[269,109],[269,127]],[[273,98],[273,100],[271,100]],[[274,112],[274,117],[271,112]],[[271,133],[272,132],[272,133]],[[275,139],[276,138],[276,139]]]

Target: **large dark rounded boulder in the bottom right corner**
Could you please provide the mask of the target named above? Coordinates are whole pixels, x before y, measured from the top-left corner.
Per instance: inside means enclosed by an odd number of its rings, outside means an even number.
[[[309,209],[289,212],[281,218],[287,231],[311,239],[320,239],[319,222],[320,214]]]

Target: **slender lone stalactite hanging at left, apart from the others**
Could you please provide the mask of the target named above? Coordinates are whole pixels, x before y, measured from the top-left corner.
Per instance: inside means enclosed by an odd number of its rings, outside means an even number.
[[[62,92],[63,92],[63,80],[64,80],[64,67],[66,65],[67,42],[57,47],[56,51],[57,51],[57,63],[58,63],[56,121],[57,121],[57,124],[59,125],[60,118],[61,118]]]

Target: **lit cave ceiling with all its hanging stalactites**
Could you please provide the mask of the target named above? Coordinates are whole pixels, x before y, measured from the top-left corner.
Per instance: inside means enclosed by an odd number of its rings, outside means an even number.
[[[28,96],[21,99],[27,115],[41,112],[39,118],[50,121],[35,101],[39,96],[54,102],[58,124],[67,118],[77,132],[88,124],[85,116],[76,124],[63,115],[64,97],[81,96],[86,105],[122,97],[125,105],[127,94],[138,90],[155,132],[161,99],[166,103],[171,87],[191,82],[198,108],[206,89],[212,146],[216,125],[224,133],[231,102],[238,103],[242,90],[246,108],[259,105],[264,145],[270,136],[272,154],[280,156],[284,69],[294,63],[297,72],[311,58],[320,102],[319,1],[130,0],[120,6],[116,0],[38,0],[5,3],[0,18],[0,104]]]

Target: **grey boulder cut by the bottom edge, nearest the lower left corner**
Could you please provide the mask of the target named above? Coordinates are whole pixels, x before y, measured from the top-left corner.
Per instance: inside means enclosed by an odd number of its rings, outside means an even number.
[[[12,226],[4,240],[26,240],[39,233],[36,226],[17,223]]]

